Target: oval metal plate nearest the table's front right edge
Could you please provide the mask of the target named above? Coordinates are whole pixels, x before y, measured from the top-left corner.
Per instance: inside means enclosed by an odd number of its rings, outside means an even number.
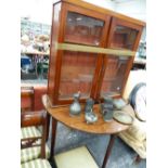
[[[115,111],[113,113],[113,118],[125,125],[131,125],[133,122],[133,118],[122,111]]]

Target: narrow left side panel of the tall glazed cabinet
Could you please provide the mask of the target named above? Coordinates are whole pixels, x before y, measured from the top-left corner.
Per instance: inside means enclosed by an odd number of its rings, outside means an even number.
[[[54,104],[55,95],[55,64],[56,64],[56,44],[59,40],[59,27],[60,27],[60,14],[61,14],[61,3],[53,5],[52,15],[52,29],[51,29],[51,42],[50,42],[50,68],[49,68],[49,79],[48,79],[48,95],[52,104]]]

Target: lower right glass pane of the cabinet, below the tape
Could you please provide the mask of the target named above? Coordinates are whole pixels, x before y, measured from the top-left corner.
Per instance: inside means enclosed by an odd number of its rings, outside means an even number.
[[[101,96],[120,94],[124,87],[124,80],[129,57],[108,56],[105,69]]]

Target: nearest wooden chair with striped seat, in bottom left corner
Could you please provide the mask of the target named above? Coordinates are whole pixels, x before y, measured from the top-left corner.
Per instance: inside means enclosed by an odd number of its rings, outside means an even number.
[[[22,168],[51,168],[47,157],[49,151],[46,148],[46,134],[47,134],[47,113],[40,112],[25,112],[21,114],[21,127],[42,126],[41,137],[28,137],[21,140],[21,167]],[[22,143],[31,140],[35,143]]]

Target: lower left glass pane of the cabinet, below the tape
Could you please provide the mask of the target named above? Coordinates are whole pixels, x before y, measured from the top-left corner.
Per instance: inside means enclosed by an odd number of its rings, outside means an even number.
[[[64,51],[62,56],[60,100],[72,99],[80,91],[89,98],[98,55],[93,53]]]

